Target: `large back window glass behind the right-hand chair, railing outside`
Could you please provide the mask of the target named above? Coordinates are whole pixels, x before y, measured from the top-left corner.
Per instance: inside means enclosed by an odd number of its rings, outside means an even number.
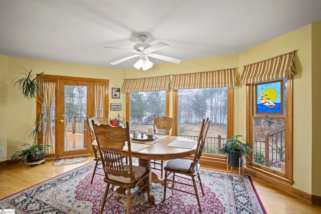
[[[198,140],[202,120],[209,117],[204,153],[219,154],[227,137],[227,88],[178,90],[178,136]]]

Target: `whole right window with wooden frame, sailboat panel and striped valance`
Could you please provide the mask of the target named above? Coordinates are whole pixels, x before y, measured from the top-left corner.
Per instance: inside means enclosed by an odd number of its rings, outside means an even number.
[[[260,173],[291,185],[292,181],[292,76],[291,52],[244,67],[240,81],[247,84],[247,160],[249,174]]]

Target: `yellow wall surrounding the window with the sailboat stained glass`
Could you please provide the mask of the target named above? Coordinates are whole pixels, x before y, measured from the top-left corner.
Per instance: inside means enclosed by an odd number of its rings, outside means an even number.
[[[239,59],[240,65],[248,65],[294,50],[298,51],[297,75],[293,78],[293,187],[311,194],[311,25],[246,50],[239,54]],[[237,94],[239,100],[245,100],[245,87]],[[245,112],[245,105],[236,102],[235,108]],[[238,121],[236,130],[243,130],[245,125],[245,121]],[[321,190],[315,194],[321,195]]]

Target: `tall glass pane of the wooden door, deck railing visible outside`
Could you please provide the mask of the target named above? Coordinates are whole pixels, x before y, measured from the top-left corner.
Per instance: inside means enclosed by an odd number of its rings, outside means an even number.
[[[86,142],[87,87],[65,86],[64,150],[80,150]]]

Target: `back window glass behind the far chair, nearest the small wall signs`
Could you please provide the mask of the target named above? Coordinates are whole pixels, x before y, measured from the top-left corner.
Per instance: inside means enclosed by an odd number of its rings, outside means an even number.
[[[165,116],[165,91],[130,93],[130,130],[146,132],[153,127],[154,115]]]

